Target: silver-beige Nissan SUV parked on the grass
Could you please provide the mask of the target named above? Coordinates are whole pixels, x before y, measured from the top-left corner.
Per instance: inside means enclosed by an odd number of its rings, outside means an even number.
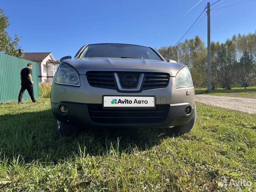
[[[153,48],[87,44],[60,59],[51,90],[56,128],[167,128],[189,132],[196,121],[190,70]]]

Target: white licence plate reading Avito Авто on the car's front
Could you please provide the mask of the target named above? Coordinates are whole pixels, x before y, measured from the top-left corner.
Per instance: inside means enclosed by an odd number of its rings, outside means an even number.
[[[103,107],[155,107],[155,97],[103,96]]]

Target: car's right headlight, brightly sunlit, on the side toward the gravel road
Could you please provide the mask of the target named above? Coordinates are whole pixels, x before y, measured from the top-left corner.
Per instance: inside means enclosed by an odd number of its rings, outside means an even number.
[[[175,88],[192,87],[193,82],[187,67],[182,68],[176,75]]]

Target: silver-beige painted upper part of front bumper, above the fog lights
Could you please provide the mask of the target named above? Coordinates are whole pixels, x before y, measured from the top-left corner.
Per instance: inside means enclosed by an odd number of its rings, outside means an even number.
[[[121,93],[115,89],[92,87],[89,85],[86,75],[80,75],[80,87],[54,84],[52,85],[51,101],[62,101],[101,104],[102,95],[112,96],[155,96],[156,105],[183,103],[194,104],[194,87],[175,88],[175,78],[170,77],[169,84],[165,88],[142,90],[139,93]]]

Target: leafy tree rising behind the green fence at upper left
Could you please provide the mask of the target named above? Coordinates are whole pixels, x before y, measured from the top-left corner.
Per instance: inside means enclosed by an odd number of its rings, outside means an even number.
[[[15,57],[20,57],[18,42],[21,37],[15,34],[13,39],[8,35],[6,29],[10,26],[9,17],[5,15],[5,12],[0,9],[0,52],[12,55]]]

